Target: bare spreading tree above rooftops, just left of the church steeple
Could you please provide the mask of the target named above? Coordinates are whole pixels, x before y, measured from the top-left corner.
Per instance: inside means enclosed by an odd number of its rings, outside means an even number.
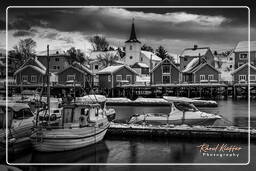
[[[107,39],[103,36],[93,36],[89,38],[89,42],[93,47],[93,51],[107,51],[109,43]]]

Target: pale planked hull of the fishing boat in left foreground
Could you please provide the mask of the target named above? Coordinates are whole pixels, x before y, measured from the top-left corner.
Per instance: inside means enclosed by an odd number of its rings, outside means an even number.
[[[36,131],[30,140],[37,151],[68,151],[82,148],[101,141],[109,127],[64,128]]]

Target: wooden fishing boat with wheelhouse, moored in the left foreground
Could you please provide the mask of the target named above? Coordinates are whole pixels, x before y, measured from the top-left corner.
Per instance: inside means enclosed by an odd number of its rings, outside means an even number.
[[[91,97],[84,96],[63,104],[59,122],[40,124],[38,121],[35,132],[30,137],[34,148],[44,152],[67,151],[101,141],[109,122],[100,104],[85,100],[88,98]]]

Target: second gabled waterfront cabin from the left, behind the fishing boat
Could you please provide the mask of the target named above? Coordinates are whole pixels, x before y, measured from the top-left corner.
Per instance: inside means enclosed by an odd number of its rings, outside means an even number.
[[[82,87],[92,86],[93,75],[91,70],[89,70],[84,65],[73,62],[65,69],[59,71],[58,84],[60,85],[79,85]]]

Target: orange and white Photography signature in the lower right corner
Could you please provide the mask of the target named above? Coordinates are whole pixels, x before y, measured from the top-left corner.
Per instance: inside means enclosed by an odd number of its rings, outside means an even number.
[[[239,157],[239,151],[242,147],[239,145],[228,145],[228,144],[201,144],[196,146],[202,156],[205,157]]]

